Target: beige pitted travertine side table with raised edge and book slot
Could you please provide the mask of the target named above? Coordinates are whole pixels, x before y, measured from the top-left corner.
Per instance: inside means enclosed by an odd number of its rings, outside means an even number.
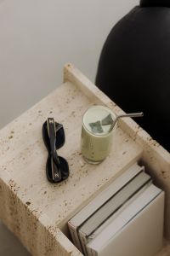
[[[97,166],[87,164],[79,148],[82,113],[94,104],[122,113],[68,64],[64,84],[0,131],[0,218],[32,255],[82,255],[71,243],[68,219],[136,160],[166,191],[165,236],[170,237],[170,154],[128,118],[120,120],[107,159]],[[59,184],[48,183],[45,174],[42,123],[48,117],[65,128],[59,155],[68,160],[71,173]],[[167,239],[157,255],[170,255]]]

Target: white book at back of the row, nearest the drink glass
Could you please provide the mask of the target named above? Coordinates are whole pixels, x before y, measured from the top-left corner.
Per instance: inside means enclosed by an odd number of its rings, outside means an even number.
[[[127,171],[123,172],[121,176],[108,185],[106,189],[101,191],[92,201],[88,203],[86,207],[83,207],[81,211],[71,218],[68,222],[68,227],[71,233],[71,238],[75,246],[82,251],[81,242],[78,237],[78,229],[81,225],[91,216],[94,212],[105,204],[112,195],[114,195],[122,186],[126,185],[133,177],[138,175],[139,172],[144,171],[144,166],[139,166],[137,163],[129,167]]]

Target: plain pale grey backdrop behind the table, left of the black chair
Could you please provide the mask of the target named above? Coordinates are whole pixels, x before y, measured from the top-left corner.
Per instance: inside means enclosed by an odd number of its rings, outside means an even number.
[[[65,62],[94,81],[112,26],[137,0],[0,0],[0,127],[62,82]]]

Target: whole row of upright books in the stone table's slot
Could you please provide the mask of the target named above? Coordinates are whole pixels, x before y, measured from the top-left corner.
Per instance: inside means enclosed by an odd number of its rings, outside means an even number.
[[[137,163],[68,222],[86,256],[152,256],[162,244],[164,192]]]

